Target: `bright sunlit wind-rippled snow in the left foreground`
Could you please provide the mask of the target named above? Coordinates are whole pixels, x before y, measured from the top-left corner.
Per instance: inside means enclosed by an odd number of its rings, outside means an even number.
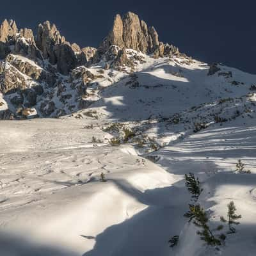
[[[1,232],[27,239],[32,245],[22,246],[24,255],[51,255],[45,248],[54,253],[58,247],[74,255],[92,250],[106,228],[148,205],[161,209],[147,191],[164,190],[177,180],[150,161],[124,153],[129,152],[125,148],[92,143],[92,136],[104,141],[109,135],[84,129],[83,122],[2,122],[0,129]],[[100,182],[102,172],[107,182]]]

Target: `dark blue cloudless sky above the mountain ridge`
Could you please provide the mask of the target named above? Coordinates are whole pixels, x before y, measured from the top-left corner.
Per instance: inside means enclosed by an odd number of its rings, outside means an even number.
[[[116,13],[137,13],[160,40],[198,60],[219,61],[256,74],[256,3],[229,0],[10,0],[1,1],[0,19],[36,29],[54,22],[68,41],[97,47]]]

